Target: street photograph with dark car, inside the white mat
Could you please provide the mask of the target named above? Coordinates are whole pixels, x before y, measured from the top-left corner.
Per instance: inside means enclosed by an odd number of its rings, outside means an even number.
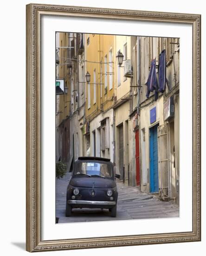
[[[55,40],[56,223],[178,218],[180,38]]]

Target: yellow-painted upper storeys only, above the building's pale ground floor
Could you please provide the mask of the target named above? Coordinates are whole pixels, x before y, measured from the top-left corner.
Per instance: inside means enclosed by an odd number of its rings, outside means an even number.
[[[114,36],[86,34],[85,71],[90,74],[86,85],[86,118],[92,119],[112,106],[114,94]]]

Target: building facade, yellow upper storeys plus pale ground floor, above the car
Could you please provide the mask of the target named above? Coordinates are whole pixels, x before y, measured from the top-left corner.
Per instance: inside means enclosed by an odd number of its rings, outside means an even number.
[[[113,35],[86,34],[85,72],[90,74],[86,83],[87,155],[113,159],[114,54]],[[88,128],[89,127],[89,128]]]

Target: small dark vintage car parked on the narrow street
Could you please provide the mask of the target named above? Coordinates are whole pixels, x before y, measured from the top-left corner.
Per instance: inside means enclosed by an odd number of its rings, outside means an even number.
[[[79,157],[67,186],[66,216],[73,208],[109,209],[116,217],[117,187],[113,164],[102,157]]]

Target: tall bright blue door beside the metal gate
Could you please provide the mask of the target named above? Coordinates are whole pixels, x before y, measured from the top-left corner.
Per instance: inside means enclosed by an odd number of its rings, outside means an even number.
[[[157,127],[149,129],[150,192],[159,192]]]

